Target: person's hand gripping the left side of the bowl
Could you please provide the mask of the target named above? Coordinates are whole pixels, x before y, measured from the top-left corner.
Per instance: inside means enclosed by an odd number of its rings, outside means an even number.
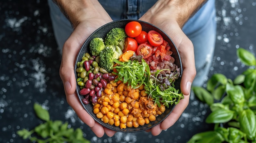
[[[98,1],[95,1],[98,2]],[[96,8],[95,8],[96,7]],[[112,19],[101,7],[101,5],[94,4],[94,8],[90,11],[86,11],[81,15],[79,21],[72,22],[74,32],[70,35],[63,46],[62,60],[60,66],[60,76],[64,84],[66,99],[68,104],[73,108],[78,117],[90,126],[91,130],[98,136],[102,137],[104,133],[108,136],[113,136],[114,131],[103,128],[99,123],[96,123],[94,119],[84,110],[76,95],[76,79],[74,75],[74,64],[76,55],[82,47],[85,40],[90,36],[92,32],[98,29],[100,26],[111,22]]]

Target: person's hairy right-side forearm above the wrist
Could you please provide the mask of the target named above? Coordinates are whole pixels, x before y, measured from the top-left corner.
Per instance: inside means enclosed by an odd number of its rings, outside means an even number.
[[[182,27],[207,0],[158,0],[149,10],[151,15],[171,17]]]

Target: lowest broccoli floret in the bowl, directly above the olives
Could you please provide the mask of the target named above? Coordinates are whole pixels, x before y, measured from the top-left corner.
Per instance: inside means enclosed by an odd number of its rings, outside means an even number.
[[[104,48],[103,51],[101,51],[101,53],[99,54],[99,58],[100,58],[99,66],[107,70],[108,73],[111,73],[113,71],[114,55],[115,55],[115,51],[113,48],[110,48],[110,47]]]

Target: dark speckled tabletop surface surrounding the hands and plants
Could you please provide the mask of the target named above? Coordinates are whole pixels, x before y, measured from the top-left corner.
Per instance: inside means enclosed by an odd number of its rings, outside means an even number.
[[[216,0],[216,5],[218,30],[209,77],[222,73],[234,79],[246,68],[236,57],[236,49],[256,52],[256,0]],[[28,142],[16,131],[42,123],[35,117],[35,102],[49,110],[51,119],[83,129],[92,143],[185,143],[193,134],[212,129],[204,123],[209,108],[191,95],[180,119],[159,136],[138,132],[97,138],[66,102],[58,75],[61,55],[48,10],[45,0],[0,2],[0,143]]]

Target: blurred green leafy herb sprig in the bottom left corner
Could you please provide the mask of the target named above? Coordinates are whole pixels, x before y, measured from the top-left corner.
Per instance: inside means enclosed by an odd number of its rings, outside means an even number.
[[[49,112],[38,103],[34,104],[34,110],[37,117],[45,123],[36,126],[33,130],[18,130],[17,134],[22,139],[29,139],[33,143],[90,143],[83,137],[83,131],[80,128],[74,130],[68,127],[67,122],[50,120]]]

